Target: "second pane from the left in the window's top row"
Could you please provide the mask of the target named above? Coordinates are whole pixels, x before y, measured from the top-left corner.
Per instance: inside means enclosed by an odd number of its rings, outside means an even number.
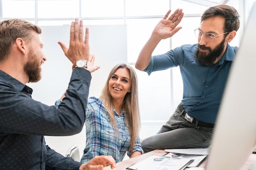
[[[40,0],[39,18],[78,18],[79,0]]]

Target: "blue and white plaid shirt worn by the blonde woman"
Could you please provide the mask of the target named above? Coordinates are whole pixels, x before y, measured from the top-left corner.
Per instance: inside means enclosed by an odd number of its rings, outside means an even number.
[[[86,163],[98,155],[111,155],[116,162],[124,159],[131,145],[130,132],[125,121],[124,110],[120,115],[115,111],[115,119],[118,131],[115,131],[110,123],[109,113],[101,100],[96,97],[88,99],[85,119],[86,146],[81,158],[82,163]],[[127,153],[128,156],[135,151],[144,153],[139,135],[135,145],[132,147],[133,150]]]

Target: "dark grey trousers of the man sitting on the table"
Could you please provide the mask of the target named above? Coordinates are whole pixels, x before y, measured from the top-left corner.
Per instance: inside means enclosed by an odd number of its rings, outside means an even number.
[[[211,145],[213,128],[199,126],[184,118],[179,105],[157,135],[141,141],[144,152],[156,149],[207,148]]]

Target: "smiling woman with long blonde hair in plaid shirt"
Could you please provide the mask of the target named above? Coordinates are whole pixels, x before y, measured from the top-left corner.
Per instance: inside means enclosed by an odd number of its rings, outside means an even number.
[[[110,71],[100,97],[89,97],[85,127],[82,163],[98,155],[111,155],[120,162],[126,152],[130,158],[144,153],[138,134],[137,75],[131,66],[117,64]]]

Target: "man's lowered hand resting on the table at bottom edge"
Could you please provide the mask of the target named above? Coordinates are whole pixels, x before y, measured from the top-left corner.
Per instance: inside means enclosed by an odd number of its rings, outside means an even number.
[[[111,169],[116,168],[116,161],[112,156],[96,156],[88,163],[81,165],[79,170],[103,170],[108,164],[110,164]]]

